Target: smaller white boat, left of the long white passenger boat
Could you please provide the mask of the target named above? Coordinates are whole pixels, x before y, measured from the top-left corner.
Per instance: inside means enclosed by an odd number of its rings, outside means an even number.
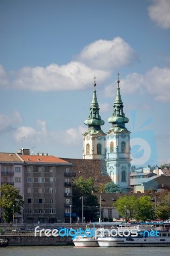
[[[95,237],[77,236],[73,239],[76,247],[98,247],[98,241]]]

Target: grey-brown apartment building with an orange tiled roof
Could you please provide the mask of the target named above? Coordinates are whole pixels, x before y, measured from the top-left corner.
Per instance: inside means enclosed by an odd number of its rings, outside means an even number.
[[[20,157],[24,161],[24,222],[70,222],[72,163],[39,154]]]

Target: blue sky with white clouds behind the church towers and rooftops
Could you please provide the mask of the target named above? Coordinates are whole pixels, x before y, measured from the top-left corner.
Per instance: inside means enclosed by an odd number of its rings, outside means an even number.
[[[0,152],[82,158],[94,76],[104,132],[117,74],[132,164],[170,163],[169,0],[1,0]]]

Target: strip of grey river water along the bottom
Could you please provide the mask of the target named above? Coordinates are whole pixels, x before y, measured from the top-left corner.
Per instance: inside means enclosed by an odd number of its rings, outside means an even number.
[[[76,248],[75,246],[8,246],[1,256],[169,256],[170,247]]]

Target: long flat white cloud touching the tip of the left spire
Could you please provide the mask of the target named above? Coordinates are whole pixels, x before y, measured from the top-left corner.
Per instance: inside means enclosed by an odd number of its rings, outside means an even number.
[[[22,90],[33,91],[64,91],[82,90],[91,84],[94,74],[100,81],[109,76],[109,72],[98,72],[83,63],[72,61],[67,65],[51,64],[47,67],[24,67],[15,74],[12,86]]]

